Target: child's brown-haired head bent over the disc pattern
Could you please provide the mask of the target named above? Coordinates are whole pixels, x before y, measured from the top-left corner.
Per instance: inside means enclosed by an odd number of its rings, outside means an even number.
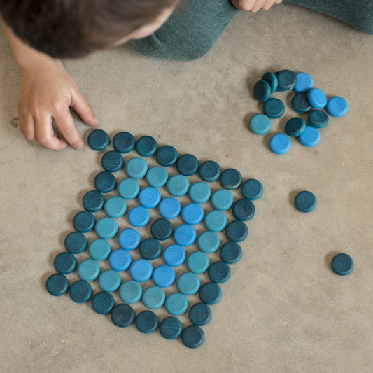
[[[141,38],[167,19],[179,0],[0,0],[13,32],[52,57],[82,57]]]

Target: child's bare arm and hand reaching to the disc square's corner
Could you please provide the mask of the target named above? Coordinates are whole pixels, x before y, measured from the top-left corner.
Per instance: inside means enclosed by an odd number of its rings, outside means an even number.
[[[71,106],[87,125],[98,125],[92,108],[59,59],[53,59],[20,41],[5,27],[15,61],[20,67],[22,85],[18,100],[20,131],[29,141],[52,150],[83,148],[83,141],[71,117]],[[59,139],[52,128],[55,120],[66,139]]]

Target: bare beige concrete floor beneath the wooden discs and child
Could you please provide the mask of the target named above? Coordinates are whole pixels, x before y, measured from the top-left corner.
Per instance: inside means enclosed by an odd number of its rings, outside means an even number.
[[[240,13],[195,62],[147,59],[128,47],[66,61],[109,134],[148,134],[264,185],[244,256],[196,350],[116,328],[90,304],[45,290],[100,158],[88,147],[53,153],[24,140],[12,121],[20,73],[3,31],[0,50],[1,372],[372,372],[372,36],[283,5]],[[255,81],[280,69],[307,71],[350,105],[316,148],[293,141],[283,156],[247,126],[261,107]],[[291,113],[287,105],[272,133]],[[90,128],[76,124],[87,139]],[[318,198],[313,213],[293,206],[304,189]],[[330,269],[339,252],[355,261],[349,276]]]

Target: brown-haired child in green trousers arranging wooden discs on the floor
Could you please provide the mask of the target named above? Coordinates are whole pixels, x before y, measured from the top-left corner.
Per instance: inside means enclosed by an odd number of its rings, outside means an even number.
[[[372,0],[285,1],[373,34]],[[83,141],[69,106],[87,125],[98,125],[92,108],[57,58],[82,57],[129,41],[148,57],[197,59],[211,49],[239,9],[255,13],[281,2],[185,0],[171,15],[179,0],[0,0],[6,33],[22,73],[20,131],[29,141],[52,150],[66,148],[67,143],[81,149]],[[53,120],[64,139],[53,131]]]

